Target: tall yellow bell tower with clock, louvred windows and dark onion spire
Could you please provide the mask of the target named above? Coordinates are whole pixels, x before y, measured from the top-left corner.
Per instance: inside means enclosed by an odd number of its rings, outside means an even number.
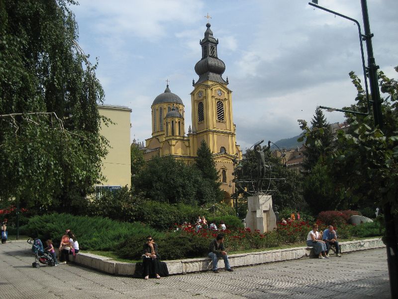
[[[204,140],[213,154],[235,155],[239,149],[232,117],[232,91],[227,88],[228,78],[226,81],[222,78],[225,63],[218,58],[218,39],[213,37],[209,23],[206,27],[204,38],[200,40],[202,57],[195,65],[199,79],[193,82],[191,93],[190,134],[195,137],[191,154],[196,156],[198,146]]]

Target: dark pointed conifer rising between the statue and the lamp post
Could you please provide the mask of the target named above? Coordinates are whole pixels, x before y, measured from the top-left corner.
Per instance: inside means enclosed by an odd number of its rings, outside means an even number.
[[[305,160],[303,166],[306,170],[311,170],[312,167],[318,162],[320,157],[324,157],[330,152],[330,146],[333,135],[330,132],[330,125],[327,123],[326,118],[319,107],[316,107],[315,114],[311,120],[312,130],[315,141],[311,143],[311,139],[305,141],[305,150],[303,154]],[[298,141],[303,141],[300,137]]]

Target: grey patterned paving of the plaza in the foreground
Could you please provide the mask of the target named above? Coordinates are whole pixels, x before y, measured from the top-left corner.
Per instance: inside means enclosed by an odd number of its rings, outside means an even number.
[[[35,269],[30,248],[26,241],[0,244],[1,299],[391,298],[385,248],[148,281],[74,264]]]

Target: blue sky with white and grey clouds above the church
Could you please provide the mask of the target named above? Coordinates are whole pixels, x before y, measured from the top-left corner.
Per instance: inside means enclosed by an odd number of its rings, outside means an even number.
[[[201,58],[207,13],[223,78],[233,91],[237,143],[278,141],[300,133],[316,106],[342,108],[356,95],[348,73],[362,74],[357,26],[305,0],[79,0],[72,6],[79,43],[92,62],[105,104],[132,109],[131,141],[151,136],[151,104],[170,89],[181,97],[186,132],[191,121],[192,79]],[[362,24],[360,0],[319,0]],[[368,0],[376,63],[398,74],[398,1]],[[366,56],[365,56],[366,58]],[[325,112],[330,123],[343,115]]]

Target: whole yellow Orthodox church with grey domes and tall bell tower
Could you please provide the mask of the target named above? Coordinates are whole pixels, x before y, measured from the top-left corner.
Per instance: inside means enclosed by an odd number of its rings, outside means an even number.
[[[177,159],[193,161],[202,140],[213,153],[219,171],[221,188],[225,198],[231,198],[233,190],[232,159],[242,158],[236,145],[236,128],[233,123],[232,91],[221,77],[225,64],[218,59],[218,39],[213,37],[210,24],[206,24],[204,38],[200,41],[202,57],[195,65],[199,75],[193,80],[191,92],[192,128],[185,132],[185,106],[179,96],[170,91],[167,84],[164,93],[152,103],[152,137],[145,141],[144,158],[154,155],[173,155]]]

